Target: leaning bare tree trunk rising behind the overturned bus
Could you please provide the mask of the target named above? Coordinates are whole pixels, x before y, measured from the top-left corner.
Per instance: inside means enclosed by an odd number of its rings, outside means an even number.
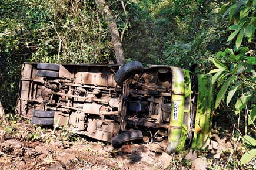
[[[117,23],[115,23],[114,16],[112,15],[108,5],[105,0],[95,0],[99,9],[102,9],[105,13],[108,27],[111,33],[111,39],[114,46],[115,56],[117,59],[117,64],[124,64],[124,50],[122,49],[122,43],[120,39],[120,35],[117,29]]]

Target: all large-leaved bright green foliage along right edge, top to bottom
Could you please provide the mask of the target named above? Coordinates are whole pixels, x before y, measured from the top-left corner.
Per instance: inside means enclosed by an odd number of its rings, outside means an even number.
[[[212,83],[217,82],[220,91],[217,94],[215,107],[218,107],[222,100],[226,99],[226,106],[234,111],[235,115],[244,115],[245,135],[242,137],[249,151],[245,152],[240,159],[240,165],[248,164],[255,156],[256,140],[247,135],[248,125],[256,129],[256,98],[255,85],[256,74],[255,65],[256,58],[253,50],[255,50],[254,33],[256,26],[256,1],[229,1],[222,5],[220,11],[223,16],[228,15],[232,33],[228,36],[227,41],[230,43],[235,39],[235,49],[225,49],[217,53],[217,59],[213,60],[214,65],[218,69],[211,70],[210,73],[215,73]],[[247,38],[248,44],[244,41]],[[217,62],[220,61],[220,62]],[[225,66],[225,67],[224,67]],[[228,95],[227,90],[229,89]],[[240,116],[239,116],[240,118]],[[241,120],[238,119],[238,122]],[[239,127],[239,126],[238,126]],[[249,132],[250,133],[250,132]]]

